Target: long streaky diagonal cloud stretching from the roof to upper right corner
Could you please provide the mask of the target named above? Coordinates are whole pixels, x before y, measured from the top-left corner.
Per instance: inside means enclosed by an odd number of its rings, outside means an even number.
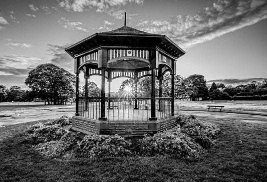
[[[194,16],[154,20],[142,30],[166,34],[183,48],[212,40],[267,18],[266,0],[216,0]]]

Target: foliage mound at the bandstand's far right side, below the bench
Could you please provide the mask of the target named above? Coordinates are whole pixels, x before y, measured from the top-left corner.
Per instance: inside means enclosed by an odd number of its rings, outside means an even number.
[[[200,144],[203,148],[210,148],[214,145],[212,139],[220,133],[220,129],[210,123],[199,121],[193,115],[179,115],[178,124],[181,132],[188,135]]]

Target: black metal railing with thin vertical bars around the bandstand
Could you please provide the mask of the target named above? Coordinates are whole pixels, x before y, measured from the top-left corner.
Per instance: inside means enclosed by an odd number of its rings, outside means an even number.
[[[171,116],[171,99],[171,97],[155,98],[155,117],[161,119]],[[175,110],[177,108],[174,108]],[[98,119],[101,115],[101,98],[79,97],[79,115]],[[149,120],[151,97],[106,97],[105,117],[114,121]]]

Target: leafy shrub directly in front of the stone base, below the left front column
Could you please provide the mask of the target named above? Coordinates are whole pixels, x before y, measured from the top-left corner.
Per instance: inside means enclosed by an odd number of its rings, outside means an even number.
[[[88,135],[78,145],[82,157],[129,156],[131,143],[119,135]]]

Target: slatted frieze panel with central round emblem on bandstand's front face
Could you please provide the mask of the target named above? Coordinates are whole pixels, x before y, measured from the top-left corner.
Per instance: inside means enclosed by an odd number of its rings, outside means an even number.
[[[123,56],[135,56],[141,57],[143,59],[149,60],[148,50],[132,50],[132,49],[109,49],[108,50],[108,60],[123,57]]]

